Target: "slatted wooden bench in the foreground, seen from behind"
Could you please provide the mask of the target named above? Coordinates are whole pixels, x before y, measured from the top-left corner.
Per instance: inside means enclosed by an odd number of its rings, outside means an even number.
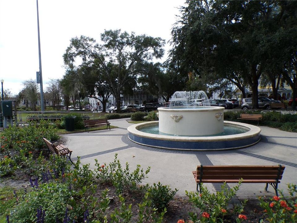
[[[270,184],[278,196],[278,183],[282,179],[285,166],[197,166],[193,171],[194,178],[201,193],[201,183],[266,183]]]

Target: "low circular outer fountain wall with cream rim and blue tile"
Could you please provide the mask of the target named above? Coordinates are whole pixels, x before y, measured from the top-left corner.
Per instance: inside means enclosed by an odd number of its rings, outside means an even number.
[[[159,114],[160,115],[160,114]],[[174,149],[174,150],[229,150],[252,146],[260,141],[261,129],[254,125],[224,121],[224,125],[244,128],[245,133],[227,136],[168,136],[144,133],[138,129],[149,125],[157,125],[159,121],[145,122],[128,127],[129,139],[140,145]]]

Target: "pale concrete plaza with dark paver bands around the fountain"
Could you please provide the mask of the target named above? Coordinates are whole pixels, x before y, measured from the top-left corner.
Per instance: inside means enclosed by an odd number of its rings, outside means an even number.
[[[82,164],[90,164],[94,169],[94,159],[100,164],[109,164],[118,153],[118,159],[130,169],[140,164],[144,170],[150,166],[151,171],[143,183],[153,184],[160,181],[171,188],[179,189],[179,195],[185,190],[196,190],[192,171],[197,165],[278,165],[286,166],[279,189],[286,188],[288,183],[297,184],[297,133],[285,132],[265,126],[261,128],[261,140],[256,145],[229,151],[174,151],[141,146],[128,139],[127,127],[132,125],[128,119],[110,120],[117,129],[99,130],[89,133],[73,133],[64,137],[71,149],[72,157],[81,157]],[[75,159],[74,159],[75,160]],[[211,191],[218,189],[218,184],[205,184]],[[228,184],[230,187],[235,184]],[[242,184],[238,198],[255,199],[257,196],[273,196],[274,189],[265,184]]]

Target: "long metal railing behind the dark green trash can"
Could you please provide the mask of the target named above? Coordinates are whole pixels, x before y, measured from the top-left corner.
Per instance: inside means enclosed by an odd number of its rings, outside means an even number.
[[[41,111],[19,111],[17,112],[17,123],[19,123],[20,125],[26,123],[27,120],[40,120],[40,119],[61,119],[62,114],[70,114],[70,113],[79,113],[82,114],[83,118],[91,118],[94,117],[94,113],[93,112],[77,112],[77,111],[46,111],[46,112],[41,112]],[[37,114],[36,117],[22,117],[22,114]],[[41,114],[41,116],[39,115]],[[55,114],[55,116],[49,116],[49,117],[43,117],[43,114]]]

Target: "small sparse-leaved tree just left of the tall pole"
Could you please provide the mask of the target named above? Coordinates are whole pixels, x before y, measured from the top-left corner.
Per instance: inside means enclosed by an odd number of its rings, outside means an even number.
[[[26,101],[30,101],[30,107],[32,111],[36,111],[36,103],[39,96],[39,87],[35,81],[32,79],[23,82],[24,89],[23,94]]]

